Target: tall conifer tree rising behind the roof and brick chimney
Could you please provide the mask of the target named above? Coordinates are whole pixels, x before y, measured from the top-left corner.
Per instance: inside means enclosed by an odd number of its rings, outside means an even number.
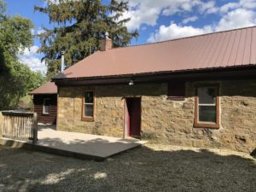
[[[66,51],[67,67],[84,59],[99,49],[100,39],[105,32],[113,39],[113,47],[130,44],[131,38],[137,38],[137,30],[128,32],[121,15],[128,9],[128,3],[111,0],[103,4],[101,0],[44,0],[47,6],[35,7],[35,10],[49,15],[49,22],[58,24],[53,29],[44,28],[39,35],[40,52],[48,67],[48,78],[59,72],[61,51]]]

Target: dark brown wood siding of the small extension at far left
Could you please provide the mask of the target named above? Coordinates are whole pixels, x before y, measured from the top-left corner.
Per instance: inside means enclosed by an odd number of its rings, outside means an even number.
[[[44,99],[49,98],[49,114],[43,114]],[[38,123],[44,124],[56,124],[57,117],[57,95],[56,94],[44,94],[34,95],[34,112],[38,113]]]

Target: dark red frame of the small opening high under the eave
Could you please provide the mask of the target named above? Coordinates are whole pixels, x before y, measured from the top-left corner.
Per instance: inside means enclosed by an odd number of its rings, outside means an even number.
[[[182,91],[183,91],[183,96],[175,96],[177,94],[172,95],[172,90],[173,90],[173,84],[176,84],[176,86],[180,86],[182,84]],[[168,90],[167,90],[167,99],[172,100],[172,101],[183,101],[186,98],[186,82],[185,81],[172,81],[168,82]]]

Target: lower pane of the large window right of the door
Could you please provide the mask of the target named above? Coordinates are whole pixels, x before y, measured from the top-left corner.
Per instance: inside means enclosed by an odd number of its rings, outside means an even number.
[[[199,121],[216,123],[215,106],[199,106]]]

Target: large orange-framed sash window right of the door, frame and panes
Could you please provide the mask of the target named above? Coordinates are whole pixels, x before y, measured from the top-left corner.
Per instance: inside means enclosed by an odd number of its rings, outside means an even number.
[[[195,127],[219,127],[219,86],[199,85],[195,88]]]

